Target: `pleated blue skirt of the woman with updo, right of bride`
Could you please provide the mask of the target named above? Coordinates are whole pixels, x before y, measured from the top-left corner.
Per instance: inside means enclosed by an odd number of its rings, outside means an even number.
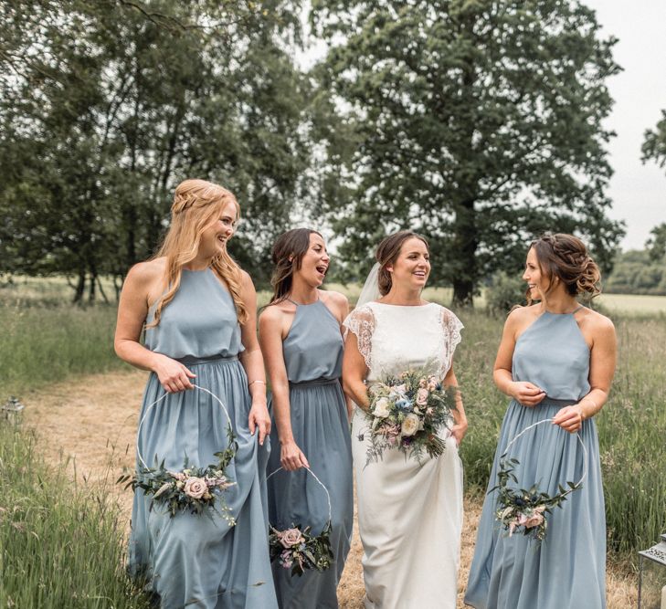
[[[547,400],[534,408],[514,400],[504,417],[489,489],[497,484],[506,446],[527,426],[550,419],[575,401]],[[606,607],[606,519],[597,428],[592,419],[579,432],[587,450],[583,487],[546,516],[545,540],[500,530],[495,520],[497,491],[486,495],[471,564],[465,603],[476,609],[603,609]],[[585,471],[585,451],[576,435],[544,423],[521,436],[508,457],[520,465],[511,488],[538,488],[557,494],[558,485],[577,482]]]

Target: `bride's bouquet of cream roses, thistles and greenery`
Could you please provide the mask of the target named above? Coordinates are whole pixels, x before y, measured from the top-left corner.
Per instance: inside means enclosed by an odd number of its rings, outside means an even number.
[[[419,462],[424,453],[436,458],[444,452],[444,440],[438,433],[442,427],[449,428],[453,420],[458,387],[444,387],[424,368],[373,383],[368,394],[367,463],[381,459],[386,448],[396,448]]]

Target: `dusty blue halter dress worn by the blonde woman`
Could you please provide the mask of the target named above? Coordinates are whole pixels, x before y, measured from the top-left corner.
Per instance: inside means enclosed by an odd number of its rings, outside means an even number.
[[[153,317],[150,311],[149,320]],[[275,608],[270,572],[265,470],[270,444],[259,446],[248,430],[248,379],[238,362],[243,350],[233,299],[210,269],[184,270],[174,299],[160,323],[146,331],[146,346],[164,353],[196,374],[193,383],[216,394],[227,406],[238,453],[227,474],[237,484],[226,492],[238,520],[229,528],[216,512],[212,518],[189,512],[171,518],[137,489],[132,507],[130,572],[145,577],[164,608]],[[191,389],[164,394],[152,373],[143,394],[139,449],[152,466],[155,457],[169,469],[190,463],[207,466],[227,446],[227,417],[208,394]],[[139,465],[137,460],[137,466]]]

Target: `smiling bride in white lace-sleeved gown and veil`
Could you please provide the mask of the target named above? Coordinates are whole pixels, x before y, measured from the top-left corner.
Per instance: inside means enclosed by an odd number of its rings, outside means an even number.
[[[444,454],[420,464],[391,449],[366,465],[365,409],[369,382],[427,362],[437,362],[445,385],[456,385],[452,359],[462,324],[451,311],[421,299],[430,272],[424,237],[409,231],[387,236],[376,259],[361,294],[368,301],[359,299],[361,306],[344,321],[344,391],[357,404],[352,451],[365,608],[454,609],[462,525],[458,446],[467,430],[460,398],[455,425],[440,432]]]

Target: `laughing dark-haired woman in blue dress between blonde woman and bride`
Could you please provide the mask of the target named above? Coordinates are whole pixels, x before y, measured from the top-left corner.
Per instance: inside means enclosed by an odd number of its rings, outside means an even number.
[[[322,236],[308,228],[281,235],[272,250],[273,296],[259,317],[259,342],[270,376],[274,419],[268,473],[269,520],[284,530],[294,524],[326,526],[331,496],[333,565],[324,572],[291,576],[273,563],[282,609],[337,607],[337,584],[349,551],[353,522],[349,411],[340,377],[341,324],[346,297],[320,289],[330,257]],[[280,446],[280,450],[278,450]]]

